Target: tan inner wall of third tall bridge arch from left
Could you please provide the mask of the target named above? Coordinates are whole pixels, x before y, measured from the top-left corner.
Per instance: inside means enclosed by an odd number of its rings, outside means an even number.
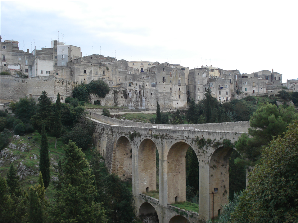
[[[167,155],[168,203],[186,200],[185,155],[189,145],[176,142]],[[177,198],[176,198],[177,197]]]

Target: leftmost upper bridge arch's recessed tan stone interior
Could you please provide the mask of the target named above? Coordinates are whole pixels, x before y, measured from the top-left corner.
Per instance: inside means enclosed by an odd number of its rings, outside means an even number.
[[[128,138],[125,136],[118,138],[114,157],[115,168],[112,166],[112,173],[116,173],[122,180],[132,177],[132,147]]]

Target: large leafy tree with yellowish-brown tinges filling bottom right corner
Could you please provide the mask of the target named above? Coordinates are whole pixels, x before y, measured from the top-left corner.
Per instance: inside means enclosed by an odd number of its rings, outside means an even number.
[[[247,190],[240,197],[233,222],[298,221],[298,123],[274,139],[262,153]]]

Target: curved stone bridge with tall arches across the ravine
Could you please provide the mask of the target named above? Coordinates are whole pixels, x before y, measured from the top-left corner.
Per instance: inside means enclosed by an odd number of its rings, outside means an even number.
[[[229,194],[229,156],[234,143],[249,122],[196,125],[155,125],[108,118],[90,112],[96,123],[94,142],[111,173],[132,177],[136,213],[157,213],[160,223],[199,222],[214,216]],[[171,203],[186,200],[185,155],[191,146],[199,160],[199,214],[183,211]],[[156,149],[159,166],[156,166]],[[159,199],[144,195],[156,190],[159,173]]]

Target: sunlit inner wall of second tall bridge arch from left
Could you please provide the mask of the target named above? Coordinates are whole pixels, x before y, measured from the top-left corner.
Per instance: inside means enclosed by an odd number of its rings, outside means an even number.
[[[156,145],[151,139],[144,139],[139,146],[138,179],[139,193],[156,190]]]

